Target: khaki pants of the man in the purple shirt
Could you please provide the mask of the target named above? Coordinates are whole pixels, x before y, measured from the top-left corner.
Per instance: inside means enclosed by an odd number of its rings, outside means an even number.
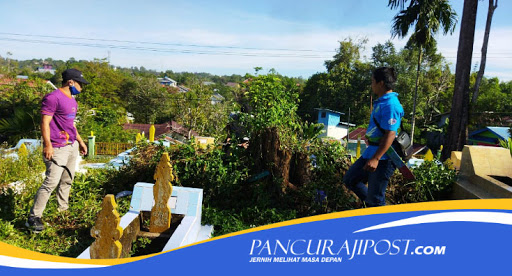
[[[75,141],[72,145],[67,145],[60,148],[53,148],[53,160],[61,166],[68,167],[71,172],[69,173],[62,167],[55,165],[51,160],[43,156],[46,165],[46,178],[43,185],[37,190],[34,197],[34,206],[30,210],[30,216],[42,217],[43,211],[46,208],[46,203],[52,194],[53,190],[57,190],[57,203],[59,204],[59,211],[68,209],[69,191],[73,178],[75,177],[76,158],[78,157],[78,142]]]

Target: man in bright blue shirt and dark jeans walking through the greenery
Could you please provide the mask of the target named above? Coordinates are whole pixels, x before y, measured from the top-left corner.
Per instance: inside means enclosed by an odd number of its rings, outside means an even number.
[[[393,92],[395,82],[393,68],[381,67],[373,71],[372,91],[378,99],[373,103],[373,112],[366,129],[370,145],[343,177],[345,185],[370,207],[386,205],[386,188],[396,169],[386,155],[404,116],[398,93]],[[365,182],[368,182],[368,187]]]

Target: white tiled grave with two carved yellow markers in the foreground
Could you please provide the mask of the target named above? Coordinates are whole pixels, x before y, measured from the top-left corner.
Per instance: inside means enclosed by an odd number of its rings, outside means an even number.
[[[122,218],[113,195],[107,195],[91,235],[96,241],[78,258],[127,258],[171,250],[211,237],[213,227],[201,226],[202,189],[173,188],[172,167],[167,153],[155,172],[156,183],[137,183],[130,210]],[[172,215],[171,215],[172,213]],[[149,245],[136,248],[139,238]]]

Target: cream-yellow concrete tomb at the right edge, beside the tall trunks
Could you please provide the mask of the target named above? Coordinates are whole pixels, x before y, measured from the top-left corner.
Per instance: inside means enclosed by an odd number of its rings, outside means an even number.
[[[509,150],[464,146],[453,198],[512,198],[512,157]]]

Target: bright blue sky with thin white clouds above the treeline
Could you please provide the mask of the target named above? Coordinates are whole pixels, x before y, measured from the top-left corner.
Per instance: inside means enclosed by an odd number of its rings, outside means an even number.
[[[92,60],[158,71],[253,73],[274,68],[288,76],[325,72],[339,41],[391,39],[397,10],[387,0],[319,1],[36,1],[0,0],[0,56]],[[450,1],[459,23],[438,35],[438,49],[455,69],[463,0]],[[499,1],[492,22],[486,76],[512,80],[512,1]],[[473,68],[480,62],[488,1],[479,1]],[[397,48],[406,39],[392,39]]]

